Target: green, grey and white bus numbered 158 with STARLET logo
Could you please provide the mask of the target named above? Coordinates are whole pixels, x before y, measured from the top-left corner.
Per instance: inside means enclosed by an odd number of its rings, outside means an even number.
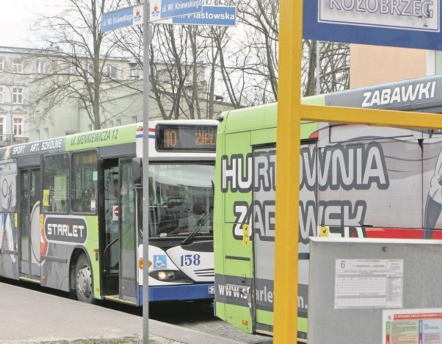
[[[149,122],[0,149],[0,276],[99,299],[213,300],[214,120]],[[149,149],[149,257],[142,156]]]

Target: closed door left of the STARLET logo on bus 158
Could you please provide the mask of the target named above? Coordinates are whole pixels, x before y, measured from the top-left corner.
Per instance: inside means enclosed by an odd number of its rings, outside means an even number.
[[[40,276],[40,171],[20,170],[19,232],[20,276],[39,280]]]

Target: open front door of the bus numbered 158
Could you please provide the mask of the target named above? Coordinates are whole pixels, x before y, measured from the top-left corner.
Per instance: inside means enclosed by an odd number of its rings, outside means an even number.
[[[103,285],[107,298],[137,303],[135,198],[131,159],[104,161]]]

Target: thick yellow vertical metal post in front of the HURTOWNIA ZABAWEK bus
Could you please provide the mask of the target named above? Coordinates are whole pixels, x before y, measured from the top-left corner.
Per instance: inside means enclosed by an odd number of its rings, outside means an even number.
[[[280,0],[274,343],[298,333],[298,204],[302,0]]]

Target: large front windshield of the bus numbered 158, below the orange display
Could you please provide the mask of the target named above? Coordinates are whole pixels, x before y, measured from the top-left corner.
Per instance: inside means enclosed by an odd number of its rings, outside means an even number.
[[[210,164],[150,164],[150,236],[213,233],[213,175]]]

